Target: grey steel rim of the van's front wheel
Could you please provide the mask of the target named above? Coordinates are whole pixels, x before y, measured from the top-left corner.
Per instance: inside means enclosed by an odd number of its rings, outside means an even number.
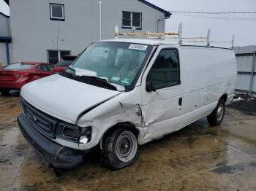
[[[116,140],[116,156],[121,162],[127,163],[132,160],[137,152],[138,144],[136,136],[125,130]]]

